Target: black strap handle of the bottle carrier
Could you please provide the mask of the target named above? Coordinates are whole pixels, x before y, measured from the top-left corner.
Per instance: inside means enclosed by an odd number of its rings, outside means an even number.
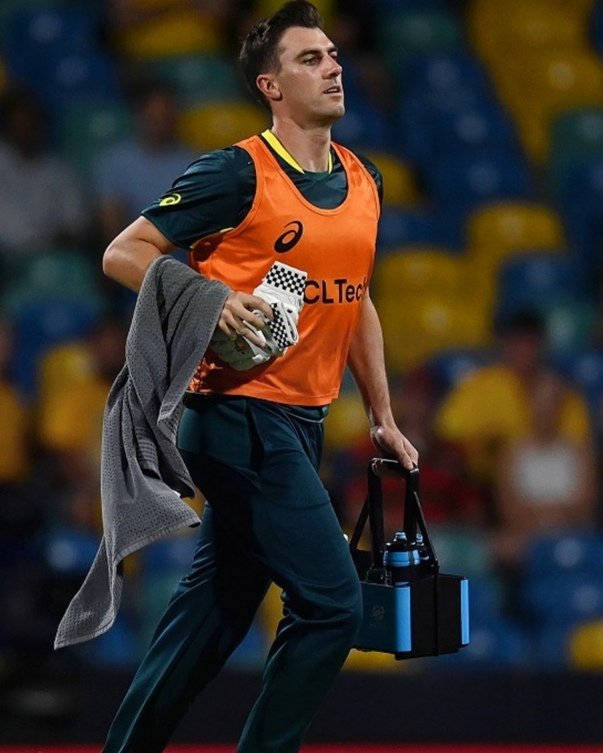
[[[379,468],[393,471],[394,474],[404,479],[404,517],[400,530],[406,533],[409,541],[415,541],[418,529],[423,536],[423,548],[427,553],[431,572],[437,574],[440,566],[427,531],[427,524],[419,499],[419,468],[415,465],[411,470],[408,470],[397,460],[389,458],[373,458],[368,464],[368,494],[350,539],[352,556],[358,552],[360,537],[368,521],[371,533],[372,567],[381,568],[383,566],[385,536],[383,532],[383,490],[381,475],[378,473]]]

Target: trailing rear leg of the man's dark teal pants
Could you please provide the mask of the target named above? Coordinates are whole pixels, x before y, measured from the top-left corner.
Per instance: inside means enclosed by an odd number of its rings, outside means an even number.
[[[197,693],[247,633],[269,585],[230,525],[206,505],[190,573],[178,585],[113,720],[103,753],[159,753]]]

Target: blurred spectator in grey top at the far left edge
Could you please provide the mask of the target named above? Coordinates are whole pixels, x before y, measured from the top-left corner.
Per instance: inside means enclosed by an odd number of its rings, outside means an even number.
[[[46,113],[31,92],[3,97],[0,136],[0,253],[79,244],[88,221],[82,186],[49,151]]]

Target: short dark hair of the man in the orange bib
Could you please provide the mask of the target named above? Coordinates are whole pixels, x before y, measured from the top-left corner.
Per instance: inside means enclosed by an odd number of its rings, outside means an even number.
[[[270,18],[258,21],[241,46],[239,63],[245,83],[255,99],[265,106],[266,99],[259,91],[256,80],[260,73],[279,70],[278,45],[285,31],[291,26],[322,29],[324,24],[312,3],[306,0],[290,0]]]

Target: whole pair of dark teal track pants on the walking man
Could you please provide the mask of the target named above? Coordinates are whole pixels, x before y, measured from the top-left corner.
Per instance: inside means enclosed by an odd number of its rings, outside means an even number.
[[[238,753],[296,753],[352,646],[361,593],[318,477],[319,409],[194,396],[179,447],[209,500],[178,585],[109,730],[104,753],[164,750],[247,633],[271,582],[283,619]]]

